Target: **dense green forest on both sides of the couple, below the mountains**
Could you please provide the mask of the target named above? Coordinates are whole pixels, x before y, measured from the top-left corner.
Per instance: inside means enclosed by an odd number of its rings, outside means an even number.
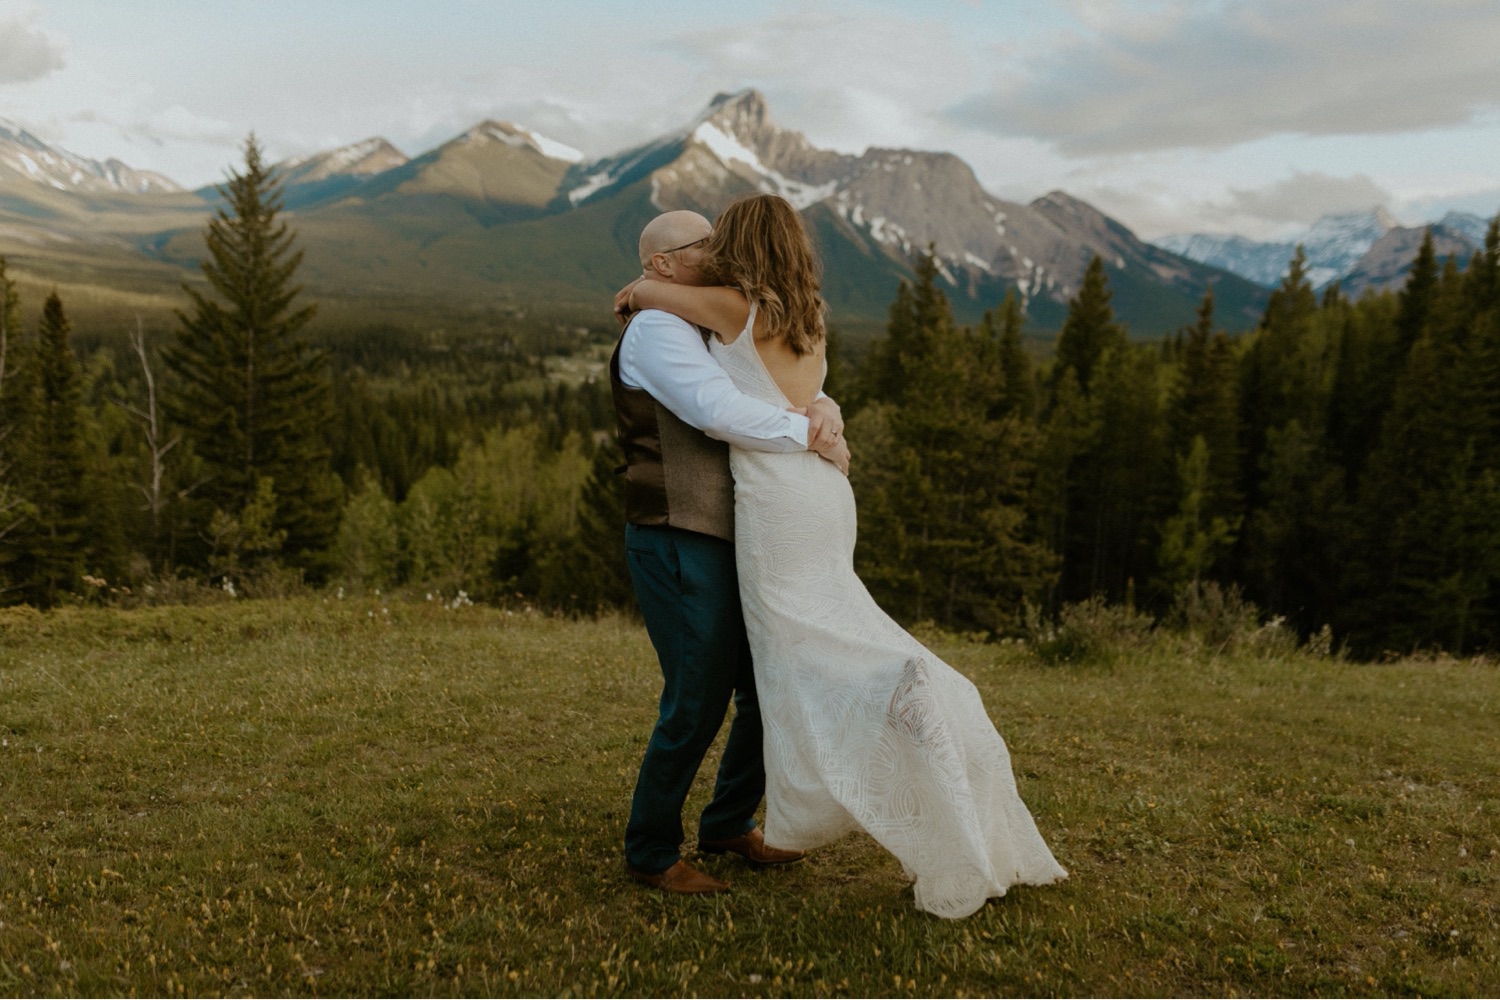
[[[174,328],[128,336],[76,336],[57,294],[24,328],[0,259],[0,603],[633,604],[608,384],[555,375],[608,325],[318,327],[254,144],[206,241]],[[1020,300],[958,325],[930,258],[892,294],[860,357],[831,339],[828,391],[897,618],[1006,636],[1086,600],[1239,601],[1359,655],[1500,645],[1500,219],[1354,301],[1299,252],[1239,337],[1210,292],[1131,340],[1100,259],[1041,361]]]

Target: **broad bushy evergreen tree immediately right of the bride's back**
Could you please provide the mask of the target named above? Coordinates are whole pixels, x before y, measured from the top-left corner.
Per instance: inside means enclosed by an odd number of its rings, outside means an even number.
[[[860,573],[897,618],[1010,631],[1052,577],[1024,507],[1035,427],[1011,412],[993,318],[957,327],[932,258],[916,271],[876,351],[882,402],[850,423]]]

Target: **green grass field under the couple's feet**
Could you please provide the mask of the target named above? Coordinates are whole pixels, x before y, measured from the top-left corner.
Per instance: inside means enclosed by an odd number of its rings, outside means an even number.
[[[864,838],[628,882],[627,619],[0,610],[0,993],[1500,994],[1494,663],[933,642],[1072,873],[957,922]]]

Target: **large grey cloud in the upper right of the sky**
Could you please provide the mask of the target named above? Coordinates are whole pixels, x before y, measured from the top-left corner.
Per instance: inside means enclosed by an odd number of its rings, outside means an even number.
[[[1078,22],[1038,55],[1010,52],[948,114],[1089,156],[1428,130],[1500,108],[1490,0],[1082,4]]]

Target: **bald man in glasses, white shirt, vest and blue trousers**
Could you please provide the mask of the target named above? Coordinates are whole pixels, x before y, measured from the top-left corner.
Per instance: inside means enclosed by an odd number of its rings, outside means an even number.
[[[712,228],[696,211],[669,211],[640,232],[640,267],[658,280],[702,285]],[[765,795],[760,706],[735,576],[729,444],[760,451],[810,448],[848,472],[843,418],[822,397],[806,415],[746,396],[710,357],[704,334],[672,313],[642,310],[609,358],[620,444],[626,453],[626,562],[662,664],[662,700],[640,762],[626,868],[668,892],[729,886],[681,856],[682,805],[730,697],[735,720],[698,846],[756,865],[802,853],[765,844],[754,811]]]

